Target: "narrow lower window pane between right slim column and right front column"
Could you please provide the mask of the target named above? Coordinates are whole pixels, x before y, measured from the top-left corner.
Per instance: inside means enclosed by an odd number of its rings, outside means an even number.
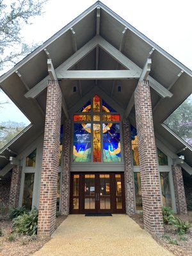
[[[136,210],[141,211],[143,209],[143,204],[142,204],[142,195],[141,195],[140,172],[134,172],[134,191],[135,191]]]

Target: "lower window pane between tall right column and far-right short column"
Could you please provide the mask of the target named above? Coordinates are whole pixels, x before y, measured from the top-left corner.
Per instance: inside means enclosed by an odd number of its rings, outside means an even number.
[[[160,180],[163,205],[167,207],[172,207],[172,195],[170,189],[169,173],[161,172]]]

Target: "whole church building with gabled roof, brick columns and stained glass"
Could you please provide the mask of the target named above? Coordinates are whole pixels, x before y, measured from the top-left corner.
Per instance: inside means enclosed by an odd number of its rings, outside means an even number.
[[[163,234],[162,205],[188,214],[192,145],[165,121],[191,84],[189,68],[97,1],[0,77],[31,122],[0,149],[0,202],[37,207],[39,236],[56,211],[143,211],[145,230]]]

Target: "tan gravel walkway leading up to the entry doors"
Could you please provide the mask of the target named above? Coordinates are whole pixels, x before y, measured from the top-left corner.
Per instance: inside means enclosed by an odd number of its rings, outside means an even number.
[[[129,216],[69,215],[34,256],[173,256]]]

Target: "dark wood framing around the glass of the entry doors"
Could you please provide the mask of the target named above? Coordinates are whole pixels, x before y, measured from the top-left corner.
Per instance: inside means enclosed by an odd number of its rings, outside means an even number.
[[[99,191],[99,175],[100,174],[109,174],[110,179],[110,203],[111,209],[99,209],[99,202],[95,201],[95,209],[84,209],[84,175],[95,175],[95,191],[96,189]],[[115,175],[121,175],[121,186],[122,186],[122,209],[116,209],[116,184],[115,184]],[[74,186],[74,175],[79,175],[79,209],[73,209],[73,186]],[[97,191],[97,192],[98,192]],[[97,205],[96,205],[97,204]],[[125,213],[125,186],[124,186],[124,172],[71,172],[70,173],[70,214],[84,214],[84,213],[97,213],[97,209],[99,209],[99,213]]]

